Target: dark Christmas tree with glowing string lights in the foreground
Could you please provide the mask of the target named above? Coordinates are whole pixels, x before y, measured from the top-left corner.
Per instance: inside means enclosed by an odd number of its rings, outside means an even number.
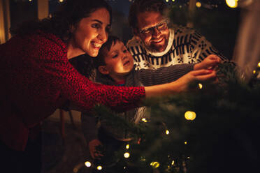
[[[216,21],[217,13],[202,18],[205,11],[226,4],[199,1],[205,8],[190,15],[188,2],[173,2],[170,14],[175,18],[171,20],[182,25],[192,22],[198,30],[203,29],[203,21],[204,24]],[[250,69],[252,75],[248,80],[233,64],[219,64],[217,82],[194,82],[187,93],[147,100],[150,117],[138,125],[124,121],[106,107],[96,107],[96,112],[103,115],[101,119],[127,130],[133,140],[92,167],[97,172],[257,172],[259,68],[257,63]]]

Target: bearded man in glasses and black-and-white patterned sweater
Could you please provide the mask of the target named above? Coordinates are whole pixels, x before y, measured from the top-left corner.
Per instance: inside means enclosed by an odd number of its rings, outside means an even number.
[[[135,0],[129,10],[129,25],[133,38],[127,47],[133,55],[136,69],[156,69],[178,63],[198,63],[210,54],[226,60],[211,43],[194,29],[168,27],[161,0]]]

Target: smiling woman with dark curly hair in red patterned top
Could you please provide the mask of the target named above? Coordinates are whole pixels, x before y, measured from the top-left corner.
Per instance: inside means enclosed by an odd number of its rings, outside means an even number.
[[[186,89],[182,81],[155,87],[107,86],[78,73],[68,60],[83,54],[86,59],[96,57],[110,24],[106,1],[67,0],[52,17],[10,30],[13,38],[0,45],[0,157],[9,172],[41,172],[41,164],[39,170],[33,168],[31,161],[36,159],[27,153],[34,146],[31,129],[67,101],[78,110],[103,104],[125,111],[140,105],[143,98]],[[91,61],[86,68],[90,74]],[[185,80],[215,75],[208,70],[200,74],[204,75]]]

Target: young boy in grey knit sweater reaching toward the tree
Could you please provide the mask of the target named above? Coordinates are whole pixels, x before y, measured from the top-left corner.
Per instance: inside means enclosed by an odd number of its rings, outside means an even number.
[[[216,55],[210,55],[204,59],[201,63],[194,64],[179,64],[174,66],[162,67],[157,70],[141,69],[134,70],[133,57],[128,52],[122,41],[115,37],[109,36],[106,43],[104,43],[99,51],[98,57],[95,59],[95,65],[97,69],[96,82],[108,85],[117,86],[152,86],[156,84],[164,84],[178,80],[183,75],[189,73],[192,70],[199,69],[211,69],[217,66],[220,59]],[[185,77],[182,77],[185,80]],[[132,123],[139,123],[140,120],[145,117],[145,108],[139,107],[135,110],[122,113],[122,116]],[[87,123],[93,119],[89,116],[82,116],[82,123]],[[93,123],[89,123],[87,127],[89,130],[83,131],[88,134],[86,137],[91,137],[89,142],[89,151],[92,158],[98,158],[101,153],[98,153],[95,149],[96,146],[104,144],[106,148],[106,155],[113,154],[113,151],[120,147],[120,144],[125,141],[131,140],[124,130],[115,126],[110,126],[106,121],[101,121],[101,127],[99,128],[99,140],[93,137],[93,134],[89,134],[92,130]],[[97,137],[96,137],[97,138]],[[109,148],[109,149],[108,149]]]

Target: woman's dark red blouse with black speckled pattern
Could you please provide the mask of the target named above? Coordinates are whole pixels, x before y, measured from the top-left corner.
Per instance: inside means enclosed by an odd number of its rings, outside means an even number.
[[[145,97],[143,87],[94,84],[80,75],[68,62],[66,44],[50,33],[11,38],[0,45],[0,59],[0,137],[16,150],[24,150],[29,129],[66,100],[83,110],[103,104],[123,111]]]

